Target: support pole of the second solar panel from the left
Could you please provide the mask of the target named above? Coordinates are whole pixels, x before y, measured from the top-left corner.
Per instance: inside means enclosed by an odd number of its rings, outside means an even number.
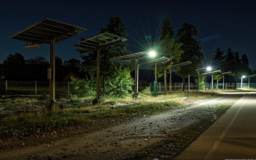
[[[97,72],[96,72],[96,98],[92,104],[101,104],[100,100],[100,69],[101,69],[101,49],[97,49]]]

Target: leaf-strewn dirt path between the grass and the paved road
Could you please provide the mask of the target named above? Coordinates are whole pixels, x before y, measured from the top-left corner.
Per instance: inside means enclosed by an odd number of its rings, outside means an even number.
[[[104,160],[120,159],[157,143],[182,128],[213,113],[223,103],[237,99],[218,97],[214,99],[189,100],[184,105],[152,116],[134,118],[130,123],[120,124],[101,131],[58,140],[51,144],[11,148],[1,152],[1,160],[68,159]],[[113,121],[114,123],[114,121]]]

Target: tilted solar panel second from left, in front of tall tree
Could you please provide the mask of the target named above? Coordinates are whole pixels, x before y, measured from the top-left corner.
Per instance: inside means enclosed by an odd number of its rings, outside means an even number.
[[[118,44],[126,40],[127,39],[122,38],[120,36],[116,36],[108,32],[105,32],[97,36],[88,38],[87,40],[83,40],[77,44],[73,44],[72,46],[82,48],[80,52],[86,53],[86,52],[92,52],[100,48],[108,47],[114,44]]]

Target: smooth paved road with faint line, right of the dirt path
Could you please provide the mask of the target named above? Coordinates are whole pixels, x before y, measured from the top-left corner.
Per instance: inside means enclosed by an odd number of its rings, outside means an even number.
[[[256,160],[256,92],[249,92],[175,160]]]

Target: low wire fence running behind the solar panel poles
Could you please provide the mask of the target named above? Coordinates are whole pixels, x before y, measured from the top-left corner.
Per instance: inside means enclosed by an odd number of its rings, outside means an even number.
[[[214,89],[217,88],[217,84],[214,83]],[[153,91],[154,83],[139,82],[138,90],[141,92],[147,87]],[[172,83],[172,91],[182,90],[183,83]],[[234,89],[235,83],[218,83],[219,89]],[[236,88],[241,88],[241,83],[236,83]],[[243,83],[243,88],[255,89],[256,83]],[[167,89],[170,90],[169,83],[167,83]],[[211,89],[211,83],[206,83],[206,89]],[[197,84],[185,83],[185,90],[197,90]],[[0,95],[48,95],[50,86],[48,81],[12,81],[12,80],[1,80],[0,81]],[[157,91],[164,92],[164,83],[157,83]],[[56,95],[70,96],[76,95],[76,91],[69,82],[55,82]]]

